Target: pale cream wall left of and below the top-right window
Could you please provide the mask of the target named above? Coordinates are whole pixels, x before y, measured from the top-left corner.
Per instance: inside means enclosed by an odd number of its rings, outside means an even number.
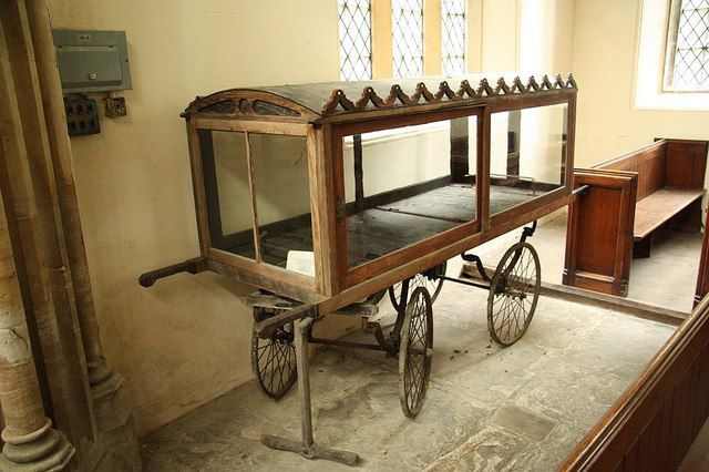
[[[588,166],[653,142],[709,137],[709,111],[633,106],[641,0],[577,0],[573,72],[578,82],[576,165]]]

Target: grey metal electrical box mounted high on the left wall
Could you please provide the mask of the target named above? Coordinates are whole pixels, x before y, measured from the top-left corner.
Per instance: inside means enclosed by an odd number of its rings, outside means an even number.
[[[125,31],[53,30],[64,93],[129,90]]]

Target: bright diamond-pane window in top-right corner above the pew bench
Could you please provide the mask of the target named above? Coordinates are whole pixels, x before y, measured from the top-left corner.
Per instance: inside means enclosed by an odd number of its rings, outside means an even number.
[[[709,0],[674,0],[671,8],[665,86],[709,91]]]

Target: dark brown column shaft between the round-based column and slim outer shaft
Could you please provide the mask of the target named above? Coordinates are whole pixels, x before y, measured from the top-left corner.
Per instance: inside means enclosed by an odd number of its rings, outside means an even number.
[[[6,153],[0,188],[21,293],[41,287],[24,306],[37,319],[52,419],[83,460],[89,449],[84,445],[96,441],[97,428],[24,7],[23,0],[0,2],[0,127]],[[47,300],[41,317],[32,312]]]

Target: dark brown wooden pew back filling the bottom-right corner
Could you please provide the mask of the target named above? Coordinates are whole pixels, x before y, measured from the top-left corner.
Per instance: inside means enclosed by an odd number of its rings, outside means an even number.
[[[709,414],[709,297],[561,465],[674,471]]]

